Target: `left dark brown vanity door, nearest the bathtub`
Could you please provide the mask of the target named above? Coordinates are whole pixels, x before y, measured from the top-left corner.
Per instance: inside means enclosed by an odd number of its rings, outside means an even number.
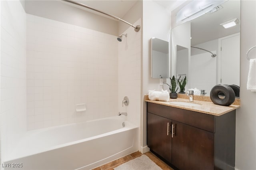
[[[171,120],[148,113],[147,144],[150,150],[162,156],[168,162],[172,160]]]

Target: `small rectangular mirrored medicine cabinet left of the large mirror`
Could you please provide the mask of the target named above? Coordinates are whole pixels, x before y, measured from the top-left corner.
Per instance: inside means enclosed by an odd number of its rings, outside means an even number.
[[[151,77],[169,78],[169,42],[151,38]]]

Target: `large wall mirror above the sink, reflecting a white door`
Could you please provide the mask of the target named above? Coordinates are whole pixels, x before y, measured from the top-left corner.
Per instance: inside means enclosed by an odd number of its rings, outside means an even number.
[[[227,29],[220,25],[240,21],[240,1],[218,7],[171,30],[171,75],[187,75],[185,91],[197,88],[210,95],[216,84],[240,86],[240,24]],[[188,54],[181,55],[184,51]]]

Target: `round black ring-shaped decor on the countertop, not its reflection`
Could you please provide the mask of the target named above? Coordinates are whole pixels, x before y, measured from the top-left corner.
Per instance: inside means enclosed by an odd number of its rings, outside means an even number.
[[[224,97],[219,97],[224,94]],[[229,85],[216,85],[212,87],[210,98],[216,105],[229,106],[235,101],[235,92]]]

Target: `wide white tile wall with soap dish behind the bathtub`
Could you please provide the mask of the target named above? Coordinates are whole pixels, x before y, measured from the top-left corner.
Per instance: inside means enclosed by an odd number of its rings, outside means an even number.
[[[28,130],[118,113],[116,36],[27,14]],[[86,103],[77,113],[76,104]]]

